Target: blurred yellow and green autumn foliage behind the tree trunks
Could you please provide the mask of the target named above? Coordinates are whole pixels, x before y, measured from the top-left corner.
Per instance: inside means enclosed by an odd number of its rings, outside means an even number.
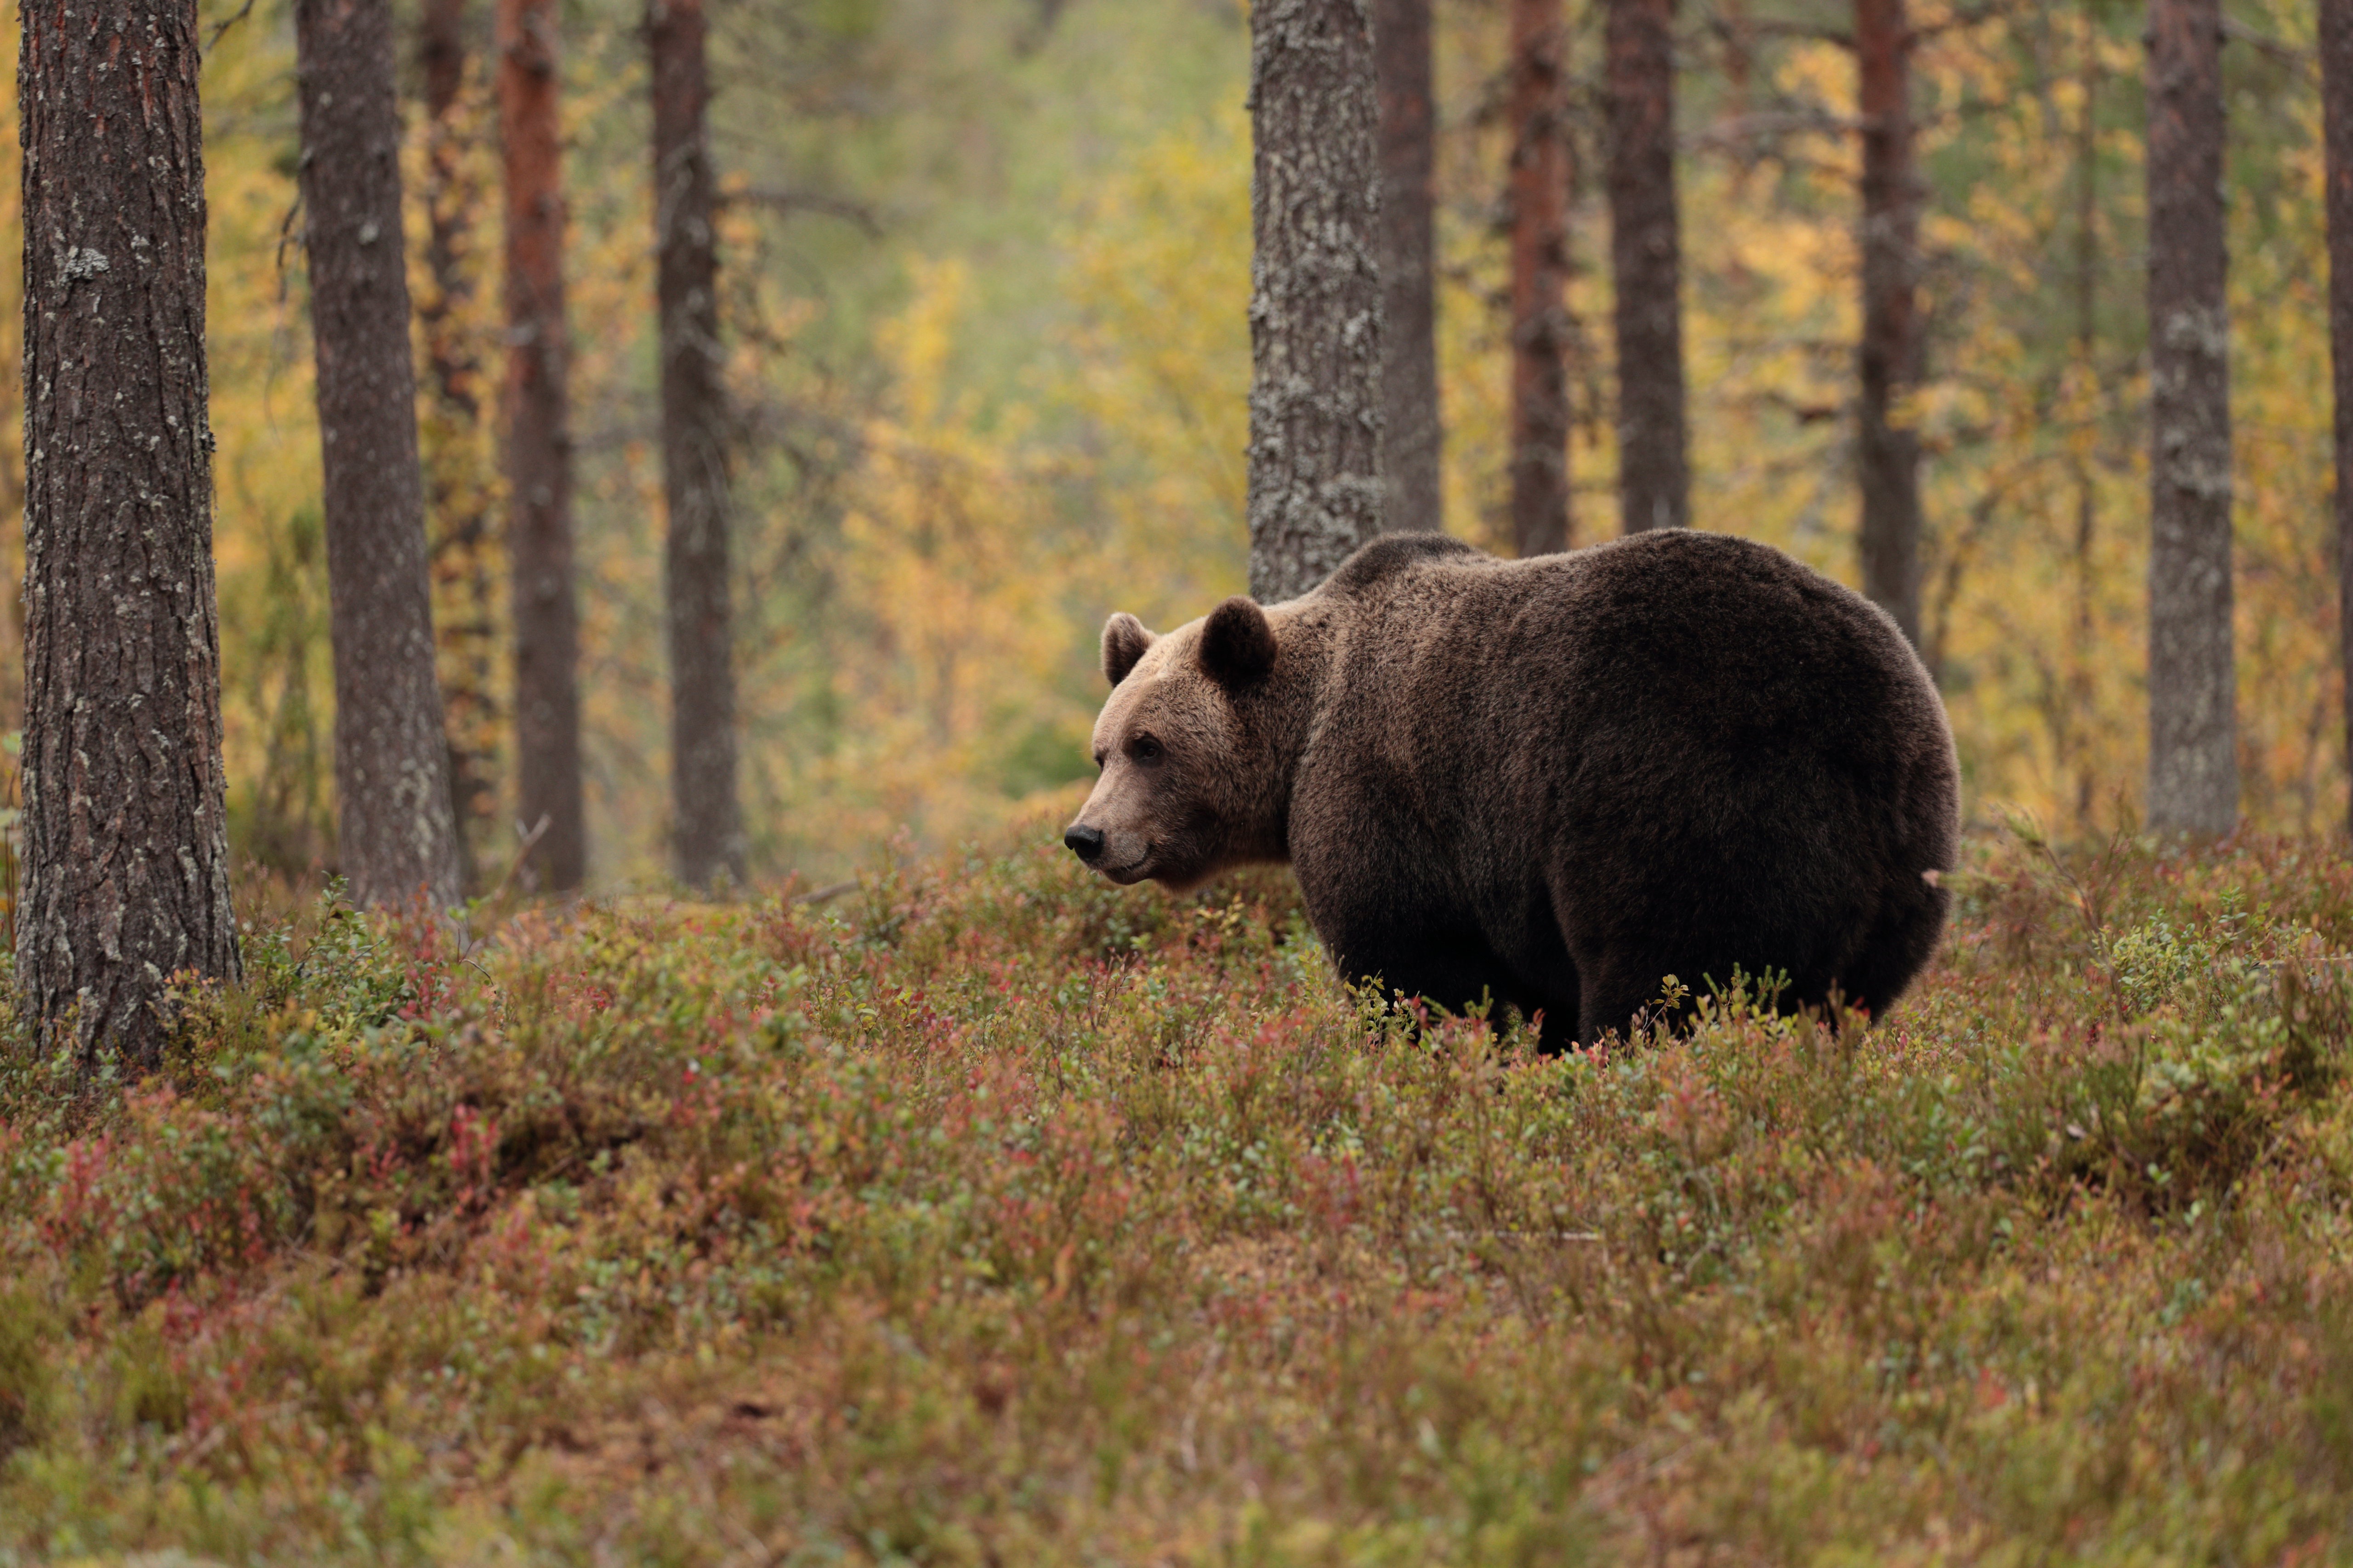
[[[334,860],[334,785],[292,16],[275,0],[205,12],[231,835],[299,877]],[[468,207],[473,289],[442,329],[494,367],[496,115],[475,12],[445,197]],[[1445,527],[1508,550],[1506,19],[1501,0],[1435,12]],[[2240,802],[2249,825],[2311,832],[2346,788],[2313,14],[2226,12]],[[1694,522],[1854,583],[1842,21],[1805,0],[1687,0],[1678,176]],[[671,837],[649,108],[638,5],[574,0],[562,26],[586,785],[609,886],[661,877]],[[1600,7],[1574,5],[1572,26],[1574,543],[1593,543],[1619,527]],[[2099,832],[2137,818],[2146,748],[2141,9],[1920,7],[1915,26],[1922,654],[1969,816],[2002,804]],[[713,9],[711,49],[751,872],[828,877],[894,832],[948,844],[1080,778],[1101,618],[1169,625],[1242,590],[1249,40],[1233,0],[741,0]],[[426,303],[414,59],[402,89]],[[0,193],[16,240],[16,179]],[[0,331],[16,334],[14,303]],[[487,414],[452,421],[428,393],[421,430],[428,494],[496,515]],[[12,508],[19,454],[0,440]],[[428,515],[442,677],[454,736],[496,780],[506,595],[485,590],[494,545],[454,538],[449,512]],[[21,646],[9,630],[0,644]],[[9,656],[0,722],[19,682]],[[513,816],[480,802],[480,860],[511,853]]]

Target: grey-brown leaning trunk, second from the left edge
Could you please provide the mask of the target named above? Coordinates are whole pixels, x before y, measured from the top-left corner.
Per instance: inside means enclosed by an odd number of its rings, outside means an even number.
[[[391,0],[296,0],[339,856],[362,907],[461,896],[433,675]]]

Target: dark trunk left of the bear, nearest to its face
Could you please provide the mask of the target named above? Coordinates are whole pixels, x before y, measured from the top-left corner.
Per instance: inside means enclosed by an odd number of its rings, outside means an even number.
[[[661,482],[668,501],[671,804],[678,877],[744,879],[727,616],[727,397],[704,106],[704,0],[652,0]]]

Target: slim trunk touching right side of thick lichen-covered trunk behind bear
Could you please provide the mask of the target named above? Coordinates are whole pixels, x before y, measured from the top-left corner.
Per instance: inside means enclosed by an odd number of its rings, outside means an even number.
[[[1374,0],[1381,78],[1381,475],[1388,529],[1445,520],[1438,416],[1438,240],[1431,200],[1438,113],[1431,92],[1431,0]]]

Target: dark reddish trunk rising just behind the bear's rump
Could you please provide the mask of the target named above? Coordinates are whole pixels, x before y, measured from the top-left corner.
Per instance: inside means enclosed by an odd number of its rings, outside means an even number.
[[[1904,0],[1854,0],[1864,120],[1864,348],[1854,433],[1864,482],[1864,595],[1920,646],[1920,435],[1894,423],[1897,402],[1920,381],[1911,49]]]

